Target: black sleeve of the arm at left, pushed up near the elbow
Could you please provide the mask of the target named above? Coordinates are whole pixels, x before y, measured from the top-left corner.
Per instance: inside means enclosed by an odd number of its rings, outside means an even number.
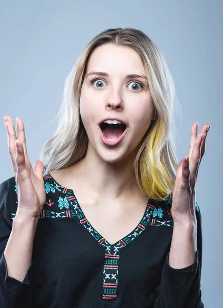
[[[31,284],[28,275],[32,264],[23,282],[8,275],[4,252],[12,224],[9,190],[5,181],[0,184],[0,307],[31,308]]]

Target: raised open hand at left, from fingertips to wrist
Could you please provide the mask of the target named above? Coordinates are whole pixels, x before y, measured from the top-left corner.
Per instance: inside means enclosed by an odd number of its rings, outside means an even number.
[[[12,159],[15,182],[17,187],[18,208],[16,217],[38,219],[46,202],[46,191],[43,181],[43,164],[37,160],[34,167],[27,155],[24,123],[17,118],[17,137],[12,118],[5,116],[8,132],[8,150]],[[16,142],[18,146],[16,147]]]

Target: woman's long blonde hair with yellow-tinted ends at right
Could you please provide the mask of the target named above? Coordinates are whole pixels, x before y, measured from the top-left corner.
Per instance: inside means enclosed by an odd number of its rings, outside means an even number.
[[[164,56],[150,38],[134,28],[107,29],[95,36],[79,56],[65,80],[63,101],[56,118],[59,123],[53,137],[42,147],[40,160],[47,156],[46,170],[63,169],[85,157],[88,137],[80,118],[79,101],[86,66],[92,52],[104,44],[133,48],[140,55],[154,106],[155,120],[142,139],[133,163],[133,172],[141,191],[154,200],[167,200],[176,178],[177,159],[173,133],[175,87]],[[176,105],[179,107],[179,105]]]

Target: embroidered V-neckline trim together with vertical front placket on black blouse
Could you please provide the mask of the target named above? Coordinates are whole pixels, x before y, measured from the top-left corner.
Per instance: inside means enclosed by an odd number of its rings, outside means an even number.
[[[156,219],[154,219],[154,217],[159,216],[161,218],[163,216],[163,210],[151,204],[150,201],[152,202],[152,200],[148,199],[143,218],[141,219],[137,227],[121,240],[117,241],[114,244],[110,244],[96,231],[92,224],[87,220],[72,189],[61,186],[49,173],[45,177],[45,180],[47,193],[49,191],[55,192],[55,190],[58,190],[62,194],[64,194],[64,199],[59,197],[58,202],[59,205],[61,205],[60,208],[67,208],[67,210],[65,211],[66,217],[71,217],[72,215],[78,218],[80,224],[82,224],[85,229],[95,238],[95,240],[104,247],[105,257],[102,268],[102,298],[104,300],[117,299],[119,293],[119,263],[122,249],[129,245],[132,241],[136,240],[140,236],[140,234],[143,233],[143,231],[148,225],[154,226],[157,221]],[[155,213],[154,210],[156,210]],[[41,213],[41,215],[43,215],[43,213]]]

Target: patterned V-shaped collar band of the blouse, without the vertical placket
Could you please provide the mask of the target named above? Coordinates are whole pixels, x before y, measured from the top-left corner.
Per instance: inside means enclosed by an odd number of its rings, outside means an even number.
[[[90,234],[97,240],[100,245],[106,248],[108,254],[117,254],[120,249],[124,248],[133,240],[138,238],[138,236],[146,229],[146,227],[151,224],[151,215],[154,210],[154,205],[152,204],[152,200],[148,199],[144,215],[139,224],[135,227],[135,229],[133,229],[128,235],[126,235],[122,239],[118,240],[116,243],[110,244],[102,235],[97,232],[93,225],[87,220],[83,213],[83,210],[81,209],[80,204],[78,203],[73,189],[66,188],[60,185],[49,173],[47,173],[47,175],[44,177],[44,180],[47,181],[54,189],[58,190],[59,192],[61,192],[61,194],[65,196],[70,205],[70,209],[75,211],[75,216],[79,219],[80,224],[83,225],[85,229],[88,230],[88,232],[90,232]]]

